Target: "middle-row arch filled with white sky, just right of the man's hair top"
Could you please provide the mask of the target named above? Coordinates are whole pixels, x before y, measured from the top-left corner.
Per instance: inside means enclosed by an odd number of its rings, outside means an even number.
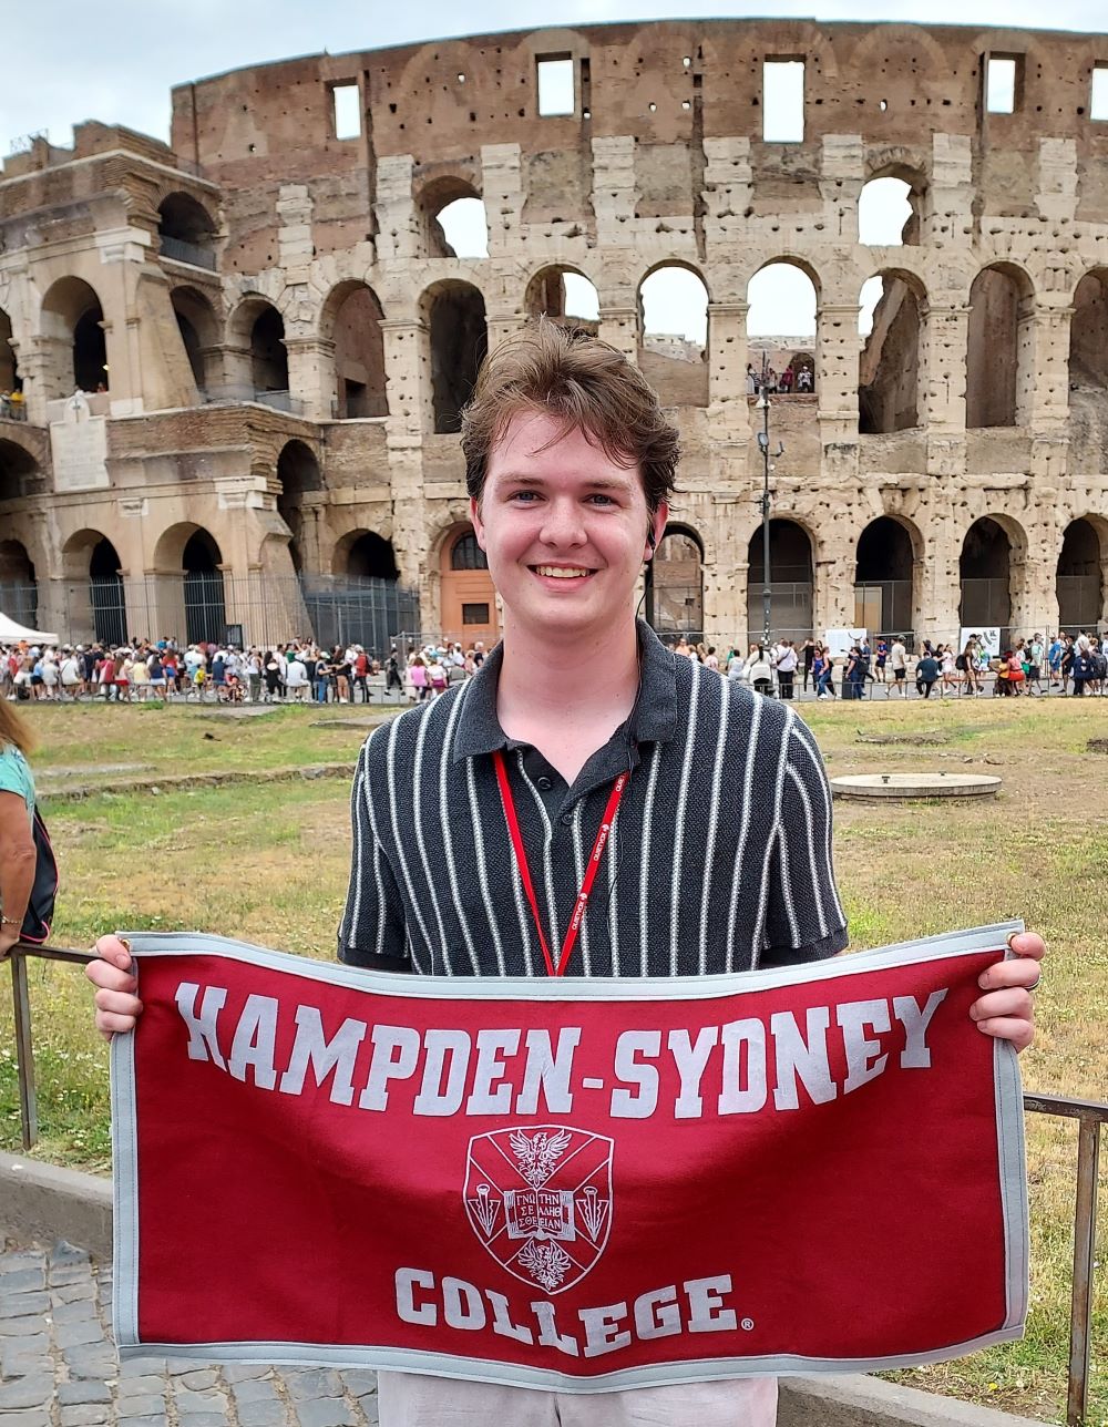
[[[665,263],[638,288],[638,365],[664,407],[708,405],[708,290]]]

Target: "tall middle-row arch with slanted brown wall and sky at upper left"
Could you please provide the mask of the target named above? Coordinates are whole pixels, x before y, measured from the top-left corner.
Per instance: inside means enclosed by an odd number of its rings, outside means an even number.
[[[864,284],[858,331],[858,431],[878,435],[920,425],[920,303],[902,277]]]

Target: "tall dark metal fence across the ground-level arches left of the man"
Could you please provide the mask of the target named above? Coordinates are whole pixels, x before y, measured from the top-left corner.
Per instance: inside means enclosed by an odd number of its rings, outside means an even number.
[[[316,639],[360,644],[378,658],[401,629],[418,629],[420,598],[388,579],[341,575],[226,575],[190,571],[130,579],[0,581],[0,609],[40,624],[67,644],[123,645],[173,638],[184,644],[274,645]]]

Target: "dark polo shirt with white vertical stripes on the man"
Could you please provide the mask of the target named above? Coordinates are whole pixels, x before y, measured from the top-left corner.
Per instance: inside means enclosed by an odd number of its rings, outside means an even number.
[[[464,685],[374,729],[353,792],[338,955],[444,976],[543,976],[491,753],[503,749],[557,958],[613,781],[630,768],[570,976],[695,976],[847,945],[831,795],[788,704],[638,625],[631,716],[573,786],[497,721],[501,651]]]

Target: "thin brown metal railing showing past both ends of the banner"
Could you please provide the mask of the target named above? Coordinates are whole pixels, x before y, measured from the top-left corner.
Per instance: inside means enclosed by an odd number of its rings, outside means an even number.
[[[61,946],[31,946],[26,942],[19,942],[11,948],[19,1107],[24,1152],[30,1150],[39,1139],[31,1006],[27,986],[29,956],[51,962],[70,962],[77,966],[84,966],[96,960],[94,952],[76,952]],[[1089,1364],[1092,1356],[1092,1273],[1097,1261],[1097,1189],[1101,1130],[1108,1124],[1108,1104],[1097,1100],[1075,1100],[1062,1095],[1025,1095],[1024,1110],[1031,1114],[1052,1114],[1078,1122],[1074,1280],[1069,1301],[1069,1373],[1065,1421],[1067,1427],[1084,1427],[1088,1411]]]

